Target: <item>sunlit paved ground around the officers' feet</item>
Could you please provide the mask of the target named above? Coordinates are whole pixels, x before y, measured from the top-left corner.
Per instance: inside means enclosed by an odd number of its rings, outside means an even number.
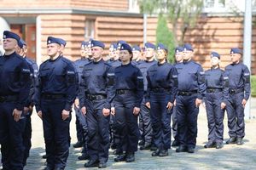
[[[251,116],[256,117],[256,99],[252,99]],[[44,169],[44,160],[41,156],[44,154],[44,137],[41,120],[36,114],[32,116],[32,150],[28,159],[26,170]],[[175,149],[169,151],[170,156],[160,158],[152,157],[149,151],[138,151],[136,161],[133,163],[113,161],[112,150],[108,161],[108,169],[256,169],[256,119],[246,121],[245,144],[238,146],[236,144],[224,145],[222,150],[204,149],[203,145],[207,142],[207,118],[206,111],[201,106],[198,119],[198,138],[195,154],[176,153]],[[228,139],[227,120],[224,120],[224,139]],[[71,123],[72,143],[76,142],[74,119]],[[67,170],[85,169],[84,162],[78,161],[80,150],[70,148],[70,156],[67,160]],[[97,168],[91,168],[97,169]]]

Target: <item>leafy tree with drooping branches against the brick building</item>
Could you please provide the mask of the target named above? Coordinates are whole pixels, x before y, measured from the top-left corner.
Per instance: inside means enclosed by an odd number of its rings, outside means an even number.
[[[141,12],[144,14],[164,14],[172,24],[174,44],[183,44],[189,28],[195,27],[201,14],[203,0],[139,0]],[[178,39],[178,31],[181,38]]]

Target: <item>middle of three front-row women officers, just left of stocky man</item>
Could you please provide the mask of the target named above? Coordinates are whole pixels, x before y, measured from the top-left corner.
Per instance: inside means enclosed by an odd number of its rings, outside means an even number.
[[[171,148],[172,106],[177,93],[177,70],[167,63],[168,49],[159,43],[156,57],[158,63],[149,67],[147,72],[148,97],[150,105],[154,145],[157,147],[152,156],[168,156]]]

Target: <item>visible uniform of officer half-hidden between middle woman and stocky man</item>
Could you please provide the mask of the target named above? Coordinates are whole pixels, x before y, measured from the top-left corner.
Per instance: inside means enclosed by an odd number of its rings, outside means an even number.
[[[183,63],[176,63],[174,67],[177,70],[177,76],[180,71],[183,69]],[[178,133],[177,133],[177,111],[176,111],[176,106],[173,106],[173,111],[172,111],[172,136],[173,138],[177,141],[177,144],[179,144],[178,140]]]

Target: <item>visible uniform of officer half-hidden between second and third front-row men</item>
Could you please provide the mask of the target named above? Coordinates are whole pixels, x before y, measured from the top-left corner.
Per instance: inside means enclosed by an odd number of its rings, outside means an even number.
[[[82,82],[82,73],[83,73],[84,65],[88,64],[89,62],[90,62],[89,59],[85,59],[85,58],[78,59],[74,62],[75,69],[78,72],[78,76],[79,76],[79,84]],[[81,113],[80,108],[77,108],[75,105],[74,105],[74,111],[76,113],[77,138],[79,142],[84,142],[84,151],[86,151],[87,144],[84,141],[87,133],[86,116],[84,116]]]

